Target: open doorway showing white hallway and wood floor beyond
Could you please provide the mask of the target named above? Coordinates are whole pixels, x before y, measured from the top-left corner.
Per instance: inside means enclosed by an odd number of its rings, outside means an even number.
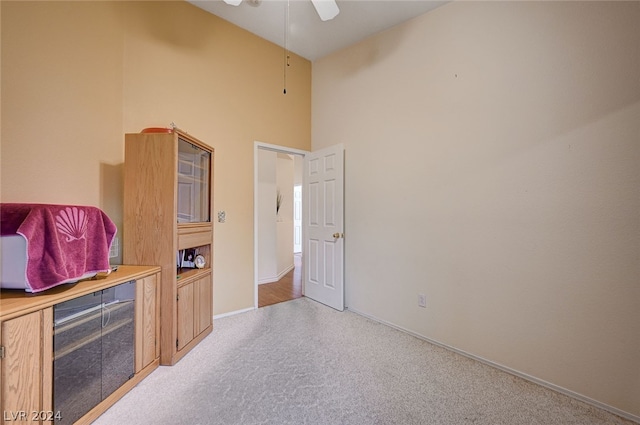
[[[300,220],[302,166],[306,154],[306,151],[255,142],[255,308],[303,296]]]

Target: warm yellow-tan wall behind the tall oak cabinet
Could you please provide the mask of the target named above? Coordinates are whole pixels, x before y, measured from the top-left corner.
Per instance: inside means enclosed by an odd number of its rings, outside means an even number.
[[[309,149],[311,64],[285,96],[281,48],[181,1],[0,5],[2,202],[121,229],[124,133],[174,122],[215,148],[214,313],[253,307],[253,145]]]

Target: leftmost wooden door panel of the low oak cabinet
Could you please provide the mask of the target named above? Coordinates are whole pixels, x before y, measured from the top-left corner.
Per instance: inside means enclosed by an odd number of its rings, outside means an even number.
[[[11,418],[11,423],[33,423],[31,412],[41,409],[41,331],[42,312],[36,311],[2,322],[2,410],[26,417]],[[5,418],[6,419],[6,418]]]

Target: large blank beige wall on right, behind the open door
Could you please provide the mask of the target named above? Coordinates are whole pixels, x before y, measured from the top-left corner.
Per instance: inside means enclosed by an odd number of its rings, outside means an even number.
[[[640,418],[639,22],[455,2],[314,62],[349,308]]]

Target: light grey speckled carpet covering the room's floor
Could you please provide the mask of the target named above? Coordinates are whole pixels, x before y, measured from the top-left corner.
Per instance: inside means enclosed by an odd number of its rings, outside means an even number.
[[[307,298],[217,319],[94,423],[633,424]]]

